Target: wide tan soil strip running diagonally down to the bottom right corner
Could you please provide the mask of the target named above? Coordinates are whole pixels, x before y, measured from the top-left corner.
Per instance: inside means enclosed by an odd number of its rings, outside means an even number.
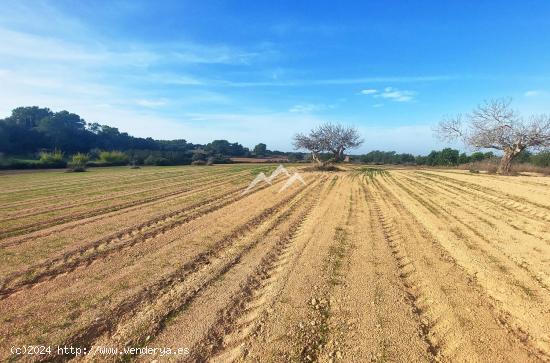
[[[453,234],[449,231],[447,222],[441,221],[439,228],[431,228],[433,217],[419,213],[416,208],[409,209],[408,207],[414,204],[405,202],[405,194],[396,188],[388,187],[391,187],[391,184],[385,183],[379,187],[384,196],[383,200],[386,201],[383,209],[390,212],[393,210],[393,223],[403,225],[402,228],[393,229],[394,231],[408,232],[398,237],[397,245],[405,251],[403,258],[410,270],[407,277],[412,276],[410,284],[417,290],[417,300],[425,304],[424,307],[419,307],[428,313],[426,317],[433,325],[430,326],[430,330],[435,329],[436,333],[434,344],[441,347],[442,354],[453,359],[455,354],[463,355],[464,359],[476,356],[481,359],[488,354],[500,355],[503,360],[523,357],[520,361],[533,360],[537,356],[544,357],[544,353],[540,352],[541,341],[530,341],[532,338],[514,328],[513,324],[510,324],[510,319],[502,313],[501,304],[495,303],[487,295],[487,286],[480,283],[480,276],[472,273],[472,258],[483,258],[479,255],[466,257],[458,254],[464,248],[459,247],[460,242],[456,236],[448,239],[449,234]],[[426,225],[431,233],[424,228]],[[434,235],[438,238],[432,237]],[[453,247],[450,247],[448,241],[458,243],[453,243]],[[401,250],[397,253],[401,254]],[[483,266],[488,269],[491,262],[483,259]],[[423,274],[420,275],[419,272]],[[503,271],[500,272],[502,273]],[[498,275],[495,269],[494,276]],[[504,281],[509,280],[507,275],[502,277]],[[517,287],[513,290],[515,291],[508,290],[509,296],[517,298],[518,292],[520,296],[523,294]],[[412,293],[415,293],[414,290]],[[525,304],[521,309],[523,318],[537,311],[543,314],[544,308],[540,303],[533,304],[526,298],[521,298],[521,301],[522,305]],[[516,302],[516,309],[517,305]],[[475,306],[475,310],[472,306]],[[540,322],[532,323],[531,328],[542,328]]]

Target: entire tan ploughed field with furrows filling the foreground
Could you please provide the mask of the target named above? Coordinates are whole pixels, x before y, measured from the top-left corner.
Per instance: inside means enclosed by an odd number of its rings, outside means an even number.
[[[550,178],[275,167],[0,175],[0,360],[550,359]]]

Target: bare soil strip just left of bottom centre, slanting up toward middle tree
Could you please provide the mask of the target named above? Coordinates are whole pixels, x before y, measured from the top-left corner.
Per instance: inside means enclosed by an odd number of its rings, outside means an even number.
[[[297,233],[294,257],[287,265],[285,279],[278,282],[280,292],[262,316],[261,331],[244,341],[246,356],[240,359],[289,361],[307,359],[308,355],[313,359],[311,354],[319,354],[314,342],[324,336],[327,317],[318,314],[328,309],[328,299],[323,301],[329,289],[330,274],[326,272],[332,263],[339,265],[335,254],[341,252],[343,236],[337,228],[345,221],[351,193],[350,178],[340,176],[333,181],[331,191]],[[313,294],[318,310],[311,304]]]

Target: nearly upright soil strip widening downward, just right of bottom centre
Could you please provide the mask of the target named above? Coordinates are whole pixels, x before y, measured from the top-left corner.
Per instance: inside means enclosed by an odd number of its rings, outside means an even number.
[[[337,345],[321,361],[430,361],[433,354],[364,185],[373,179],[356,181],[345,227],[352,248],[330,299],[329,339]]]

